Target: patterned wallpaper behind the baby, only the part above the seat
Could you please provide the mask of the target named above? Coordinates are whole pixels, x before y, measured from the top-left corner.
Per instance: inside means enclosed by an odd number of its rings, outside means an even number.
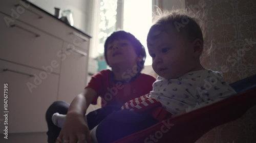
[[[228,83],[256,74],[255,0],[186,0],[186,7],[205,13],[205,48],[213,46],[205,68]]]

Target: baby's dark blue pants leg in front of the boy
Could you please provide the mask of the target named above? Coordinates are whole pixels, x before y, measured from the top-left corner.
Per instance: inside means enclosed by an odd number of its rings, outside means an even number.
[[[150,115],[130,110],[113,111],[99,123],[96,137],[98,143],[109,143],[151,127],[158,122]]]

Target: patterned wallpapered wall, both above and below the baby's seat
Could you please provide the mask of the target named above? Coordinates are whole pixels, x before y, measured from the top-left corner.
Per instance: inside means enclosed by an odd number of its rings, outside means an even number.
[[[229,83],[256,74],[256,1],[186,0],[186,7],[205,13],[205,48],[213,50],[202,62]],[[211,42],[212,40],[212,42]],[[255,143],[256,106],[240,119],[218,126],[196,143]]]

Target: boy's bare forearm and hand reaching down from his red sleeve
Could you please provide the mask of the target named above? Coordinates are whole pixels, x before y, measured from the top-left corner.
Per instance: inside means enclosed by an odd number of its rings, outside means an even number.
[[[86,88],[73,99],[66,116],[66,121],[58,136],[60,141],[57,142],[61,142],[62,138],[69,138],[69,142],[92,142],[88,125],[84,121],[84,115],[96,95],[95,90]]]

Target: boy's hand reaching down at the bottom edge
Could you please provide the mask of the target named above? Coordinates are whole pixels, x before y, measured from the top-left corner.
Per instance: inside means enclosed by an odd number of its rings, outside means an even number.
[[[65,143],[92,143],[90,131],[83,116],[77,113],[68,113],[56,143],[62,143],[61,141]]]

